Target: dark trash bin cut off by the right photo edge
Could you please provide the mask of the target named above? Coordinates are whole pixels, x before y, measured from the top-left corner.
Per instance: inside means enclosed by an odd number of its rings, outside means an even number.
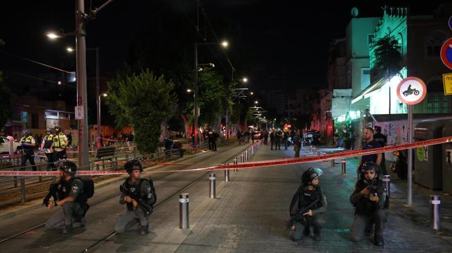
[[[442,137],[452,136],[452,120],[442,128]],[[442,189],[452,194],[452,142],[442,144]]]

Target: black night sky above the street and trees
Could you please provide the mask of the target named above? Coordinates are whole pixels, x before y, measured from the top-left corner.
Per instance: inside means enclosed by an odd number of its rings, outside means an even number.
[[[381,17],[380,6],[401,6],[406,2],[201,1],[218,39],[227,39],[227,32],[222,30],[228,26],[225,23],[239,30],[234,40],[229,40],[230,46],[226,51],[236,68],[234,75],[246,75],[254,89],[283,88],[286,92],[295,87],[326,87],[327,48],[331,39],[345,35],[352,7],[358,8],[358,17]],[[85,1],[85,8],[90,4],[92,8],[98,7],[102,3],[105,1]],[[412,13],[431,14],[437,6],[434,1],[428,1],[428,6],[410,3]],[[49,41],[44,36],[48,30],[73,30],[73,1],[8,1],[8,4],[2,2],[1,9],[0,38],[6,42],[2,50],[74,70],[75,56],[67,54],[64,49],[68,45],[75,46],[74,39],[66,37]],[[146,26],[153,15],[180,22],[180,26],[188,29],[186,32],[193,32],[195,36],[195,0],[113,1],[101,10],[98,19],[88,24],[87,47],[101,48],[101,73],[114,73],[123,66],[130,57],[132,34]],[[204,27],[200,24],[200,33]],[[171,37],[171,32],[177,31],[168,29],[165,32],[165,37]],[[159,34],[153,36],[161,37]],[[209,28],[207,41],[215,41]],[[193,54],[192,45],[187,46],[186,54]],[[1,54],[0,59],[3,70],[12,69],[24,74],[46,71],[42,66],[5,54]],[[212,61],[219,64],[220,71],[230,78],[225,55],[216,55]],[[94,75],[94,54],[88,53],[87,65],[88,75]]]

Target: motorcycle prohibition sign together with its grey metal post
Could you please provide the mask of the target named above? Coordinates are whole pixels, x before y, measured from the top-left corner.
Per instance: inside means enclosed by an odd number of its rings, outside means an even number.
[[[412,106],[427,95],[424,81],[417,77],[406,77],[397,86],[397,97],[408,107],[408,143],[412,142]],[[408,149],[408,196],[407,205],[412,205],[412,149]]]

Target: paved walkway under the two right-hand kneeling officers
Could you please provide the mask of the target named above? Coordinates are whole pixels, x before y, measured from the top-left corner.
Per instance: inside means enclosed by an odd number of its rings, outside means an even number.
[[[292,148],[270,151],[270,147],[263,145],[253,159],[292,155]],[[433,232],[424,209],[417,210],[417,205],[428,206],[428,198],[424,198],[425,203],[420,203],[423,195],[416,195],[414,210],[404,207],[403,186],[398,185],[397,180],[392,183],[394,200],[384,232],[385,247],[374,246],[371,238],[360,243],[351,242],[349,227],[354,208],[349,203],[349,194],[356,182],[354,163],[354,160],[348,162],[349,173],[346,175],[340,174],[340,165],[331,167],[330,162],[238,172],[232,182],[223,183],[216,202],[191,228],[176,252],[452,252],[449,231]],[[299,178],[311,166],[324,171],[320,184],[329,203],[327,225],[322,229],[321,242],[313,241],[312,235],[302,242],[293,242],[283,224],[288,219],[288,205],[297,190]],[[425,194],[422,190],[415,192]],[[451,203],[449,198],[444,202],[446,206]],[[451,214],[450,209],[443,211],[444,216]]]

